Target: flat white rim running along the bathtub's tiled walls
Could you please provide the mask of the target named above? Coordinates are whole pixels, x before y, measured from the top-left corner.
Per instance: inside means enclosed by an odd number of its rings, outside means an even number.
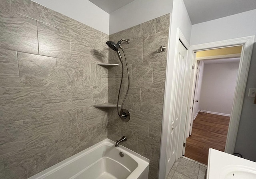
[[[92,152],[94,149],[99,148],[101,146],[110,146],[113,147],[115,146],[115,142],[110,140],[110,139],[104,139],[100,142],[98,142],[97,144],[94,144],[93,146],[90,146],[87,149],[84,149],[83,151],[80,151],[78,153],[76,153],[75,155],[72,155],[71,157],[68,157],[67,159],[56,163],[55,165],[29,177],[28,179],[44,179],[44,177],[47,177],[48,175],[51,175],[54,172],[57,172],[59,169],[67,166],[68,164],[76,161],[77,159],[83,157],[84,155],[87,155],[88,153]],[[149,167],[149,159],[147,159],[146,157],[143,157],[142,155],[120,145],[118,148],[119,151],[122,151],[123,153],[126,153],[127,155],[129,155],[130,157],[132,157],[132,159],[134,159],[137,163],[138,166],[134,169],[134,171],[132,171],[132,173],[129,175],[129,177],[127,177],[127,179],[136,179],[136,177],[140,177],[140,175],[142,174],[142,172]],[[139,173],[141,171],[141,173]]]

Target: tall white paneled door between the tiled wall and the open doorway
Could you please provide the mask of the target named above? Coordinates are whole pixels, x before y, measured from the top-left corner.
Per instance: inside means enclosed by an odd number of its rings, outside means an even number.
[[[182,108],[182,96],[184,90],[184,75],[186,65],[187,49],[178,42],[178,49],[176,54],[176,63],[174,68],[174,96],[172,102],[171,120],[169,123],[168,144],[167,144],[167,158],[166,158],[166,177],[172,168],[176,159],[176,149],[178,144],[178,131],[180,126],[180,116]]]

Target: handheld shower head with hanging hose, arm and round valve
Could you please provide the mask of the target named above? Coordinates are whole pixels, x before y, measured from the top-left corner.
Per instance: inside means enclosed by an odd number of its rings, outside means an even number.
[[[106,44],[108,45],[108,47],[110,47],[110,49],[116,51],[118,58],[122,64],[122,78],[121,78],[121,82],[120,82],[120,87],[119,87],[119,92],[118,92],[118,99],[117,99],[117,112],[118,112],[118,116],[125,122],[128,122],[130,120],[130,111],[123,109],[124,106],[124,101],[126,99],[126,96],[128,94],[129,91],[129,87],[130,87],[130,75],[129,75],[129,70],[128,70],[128,65],[127,65],[127,60],[126,60],[126,55],[124,53],[124,49],[122,48],[122,42],[126,42],[126,44],[130,43],[130,39],[121,39],[120,41],[118,41],[117,43],[114,43],[113,41],[107,41]],[[124,53],[124,59],[125,59],[125,63],[126,63],[126,68],[127,68],[127,74],[128,74],[128,88],[126,91],[126,94],[124,96],[124,100],[122,102],[121,105],[121,109],[119,110],[118,108],[118,104],[119,104],[119,96],[120,96],[120,91],[121,91],[121,87],[122,87],[122,81],[123,81],[123,76],[124,76],[124,64],[123,64],[123,60],[122,60],[122,56],[120,54],[119,49],[121,49]]]

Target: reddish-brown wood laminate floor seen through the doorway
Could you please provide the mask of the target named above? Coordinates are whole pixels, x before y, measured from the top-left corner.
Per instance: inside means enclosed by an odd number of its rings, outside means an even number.
[[[209,148],[225,149],[229,120],[228,116],[198,114],[186,141],[185,156],[207,165]]]

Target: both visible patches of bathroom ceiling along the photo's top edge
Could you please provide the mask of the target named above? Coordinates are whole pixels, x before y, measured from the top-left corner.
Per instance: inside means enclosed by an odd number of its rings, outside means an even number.
[[[89,0],[107,13],[134,0]],[[256,9],[256,0],[184,0],[192,24]]]

